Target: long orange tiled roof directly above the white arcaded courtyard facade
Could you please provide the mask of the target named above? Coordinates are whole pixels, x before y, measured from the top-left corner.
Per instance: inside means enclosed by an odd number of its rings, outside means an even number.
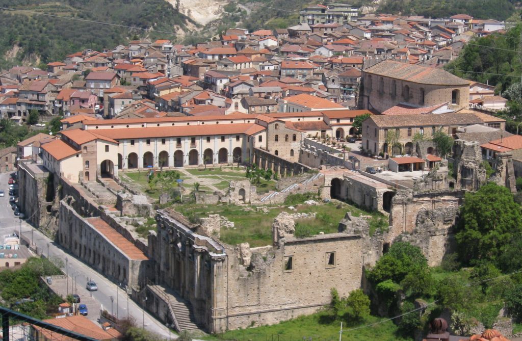
[[[227,115],[228,116],[228,115]],[[252,121],[254,116],[252,117]],[[202,117],[202,116],[200,116]],[[200,117],[194,117],[199,119]],[[215,116],[216,117],[216,116]],[[218,116],[219,119],[227,117]],[[175,117],[169,117],[175,118]],[[124,138],[147,138],[147,137],[169,137],[169,136],[199,136],[199,135],[227,135],[227,134],[248,134],[250,131],[258,132],[265,127],[253,123],[236,124],[198,124],[198,125],[179,125],[173,127],[146,127],[146,128],[118,128],[103,129],[98,131],[100,135],[110,136],[114,139]]]

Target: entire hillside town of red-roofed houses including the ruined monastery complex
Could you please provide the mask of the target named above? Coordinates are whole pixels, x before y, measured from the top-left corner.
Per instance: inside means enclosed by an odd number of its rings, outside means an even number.
[[[376,297],[383,318],[413,301],[407,314],[424,324],[408,340],[516,340],[505,307],[458,328],[457,308],[434,316],[443,298],[414,299],[402,278],[386,301],[375,271],[403,244],[444,268],[470,195],[519,190],[522,136],[496,115],[508,100],[445,68],[506,25],[328,3],[284,29],[132,40],[1,70],[2,120],[35,133],[0,150],[4,245],[17,250],[0,269],[51,259],[51,244],[65,275],[43,285],[68,297],[79,276],[86,290],[44,322],[93,339],[121,338],[129,314],[165,339],[239,339],[228,333],[321,313],[335,289]]]

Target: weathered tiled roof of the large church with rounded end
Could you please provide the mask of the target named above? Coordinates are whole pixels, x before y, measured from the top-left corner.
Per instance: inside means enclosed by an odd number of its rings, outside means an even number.
[[[369,74],[430,85],[469,86],[469,81],[433,67],[383,61],[364,70]]]

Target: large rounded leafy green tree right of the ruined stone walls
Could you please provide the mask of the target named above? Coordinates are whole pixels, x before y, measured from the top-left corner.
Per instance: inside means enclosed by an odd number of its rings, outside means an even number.
[[[466,193],[455,235],[461,259],[496,263],[522,232],[520,210],[511,192],[495,183],[485,184],[476,193]]]

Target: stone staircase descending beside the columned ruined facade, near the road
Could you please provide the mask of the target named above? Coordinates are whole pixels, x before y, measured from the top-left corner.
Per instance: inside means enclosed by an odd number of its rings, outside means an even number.
[[[147,285],[147,287],[169,305],[170,314],[177,331],[183,332],[201,329],[196,323],[194,311],[189,302],[182,299],[174,291],[163,286]]]

